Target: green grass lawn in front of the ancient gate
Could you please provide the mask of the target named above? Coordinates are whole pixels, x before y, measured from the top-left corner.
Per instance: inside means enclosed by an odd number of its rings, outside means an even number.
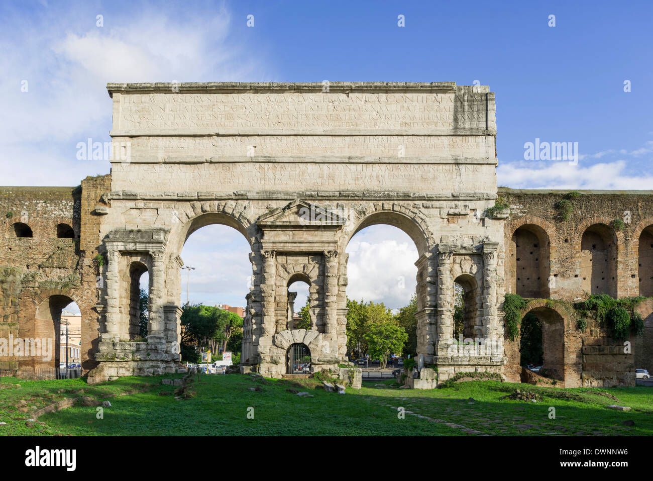
[[[195,396],[174,399],[174,386],[162,378],[120,378],[89,386],[84,380],[3,382],[0,384],[0,435],[653,435],[650,388],[539,388],[497,381],[471,381],[437,390],[377,388],[365,382],[345,395],[327,393],[312,379],[287,381],[249,375],[202,376],[191,384]],[[20,384],[20,388],[16,385]],[[260,391],[249,388],[259,387]],[[308,391],[299,397],[288,389]],[[515,389],[535,391],[537,403],[500,399]],[[94,406],[74,405],[44,414],[36,408],[64,397],[110,397],[98,419]],[[82,392],[83,391],[83,392]],[[601,395],[600,393],[603,393]],[[607,397],[608,393],[612,397]],[[469,398],[473,398],[470,401]],[[619,412],[605,406],[630,406]],[[35,407],[33,407],[35,406]],[[397,407],[406,410],[398,416]],[[549,418],[549,408],[556,418]],[[26,409],[25,409],[26,408]],[[247,413],[253,408],[253,419]],[[413,414],[410,414],[413,413]],[[633,420],[634,426],[623,424]]]

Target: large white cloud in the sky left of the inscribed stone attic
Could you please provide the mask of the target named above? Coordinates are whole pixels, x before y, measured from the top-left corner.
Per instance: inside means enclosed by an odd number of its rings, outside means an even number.
[[[0,39],[0,103],[10,112],[0,118],[2,185],[76,186],[108,173],[108,161],[76,159],[77,142],[110,141],[107,82],[266,80],[261,49],[233,38],[224,7],[183,18],[176,10],[104,12],[104,27],[95,26],[97,7],[67,8],[40,10],[29,22],[5,18],[14,26]]]

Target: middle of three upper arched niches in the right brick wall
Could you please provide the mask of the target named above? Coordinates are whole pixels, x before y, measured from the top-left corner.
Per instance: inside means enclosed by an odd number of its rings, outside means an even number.
[[[582,234],[581,277],[583,291],[616,297],[616,237],[605,224],[590,225]]]

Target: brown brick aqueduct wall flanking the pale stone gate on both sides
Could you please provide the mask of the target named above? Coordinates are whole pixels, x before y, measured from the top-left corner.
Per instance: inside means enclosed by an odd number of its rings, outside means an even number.
[[[61,308],[75,301],[82,312],[82,367],[97,366],[103,309],[97,209],[108,206],[103,194],[110,190],[110,174],[88,177],[77,188],[0,188],[0,339],[58,339]],[[498,195],[510,206],[505,291],[535,299],[524,313],[533,310],[543,323],[545,365],[568,387],[632,385],[635,367],[652,371],[652,300],[637,307],[645,333],[631,337],[631,355],[596,320],[577,329],[569,302],[589,293],[653,297],[653,192],[581,191],[570,200],[567,220],[558,208],[567,191],[499,188]],[[29,236],[25,226],[31,237],[20,237]],[[503,374],[518,381],[519,340],[506,340],[504,350]],[[0,369],[56,362],[56,356],[47,362],[0,356]]]

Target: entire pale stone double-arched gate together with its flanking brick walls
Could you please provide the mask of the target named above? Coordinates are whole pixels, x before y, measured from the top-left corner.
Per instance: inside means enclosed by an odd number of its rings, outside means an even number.
[[[120,153],[110,174],[74,190],[0,188],[0,337],[54,336],[61,308],[76,301],[90,382],[180,369],[183,244],[200,227],[224,224],[251,247],[244,369],[281,377],[300,345],[311,369],[337,372],[347,361],[347,242],[388,224],[417,246],[417,352],[438,367],[439,381],[470,371],[520,379],[505,293],[535,299],[524,314],[540,314],[545,365],[562,385],[631,385],[635,362],[651,369],[648,301],[638,307],[645,333],[633,339],[633,354],[622,354],[599,323],[577,329],[572,312],[542,299],[653,295],[653,248],[643,254],[653,246],[653,193],[586,191],[582,208],[561,222],[554,206],[564,192],[498,190],[486,86],[174,87],[108,84]],[[497,208],[498,197],[509,208]],[[624,210],[632,218],[617,231],[613,220]],[[146,271],[148,335],[140,339],[138,279]],[[310,329],[293,329],[289,316],[296,280],[310,286]],[[454,282],[464,289],[464,336],[479,340],[474,349],[454,339]]]

